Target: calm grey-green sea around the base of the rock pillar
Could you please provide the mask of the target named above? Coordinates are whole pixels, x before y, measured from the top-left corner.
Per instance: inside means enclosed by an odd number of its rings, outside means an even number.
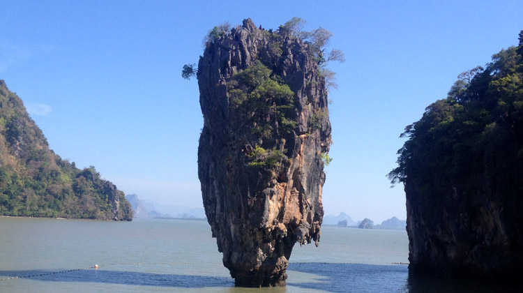
[[[234,287],[204,221],[0,218],[0,292],[517,292],[409,280],[404,231],[321,231],[318,248],[294,247],[287,287],[248,289]]]

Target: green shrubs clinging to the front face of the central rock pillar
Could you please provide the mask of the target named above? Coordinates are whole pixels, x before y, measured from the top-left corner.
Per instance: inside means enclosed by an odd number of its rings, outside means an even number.
[[[245,132],[243,144],[256,145],[248,153],[248,167],[273,170],[285,160],[285,150],[259,144],[282,139],[296,128],[298,123],[286,116],[294,111],[294,92],[261,61],[236,73],[226,86],[231,123]]]

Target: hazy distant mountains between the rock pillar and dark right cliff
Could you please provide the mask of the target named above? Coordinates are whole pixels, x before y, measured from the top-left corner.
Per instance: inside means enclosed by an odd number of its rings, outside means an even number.
[[[366,225],[361,225],[363,222]],[[364,221],[358,220],[355,222],[347,213],[340,213],[338,216],[327,215],[324,216],[324,225],[335,225],[340,227],[362,227],[365,229],[382,229],[382,230],[405,230],[407,227],[406,220],[400,220],[396,217],[392,217],[388,220],[381,222],[381,225],[374,225],[372,220],[365,218]]]

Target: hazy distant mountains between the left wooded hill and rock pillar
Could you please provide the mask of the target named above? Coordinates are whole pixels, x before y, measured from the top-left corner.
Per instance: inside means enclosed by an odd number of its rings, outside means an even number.
[[[135,218],[183,218],[194,220],[206,218],[205,211],[202,208],[147,202],[139,200],[136,194],[126,195],[126,199],[132,206]]]

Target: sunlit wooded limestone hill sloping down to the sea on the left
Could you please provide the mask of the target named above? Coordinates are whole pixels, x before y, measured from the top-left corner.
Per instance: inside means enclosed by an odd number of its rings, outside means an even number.
[[[131,220],[130,204],[94,167],[49,149],[24,103],[0,80],[0,215]]]

